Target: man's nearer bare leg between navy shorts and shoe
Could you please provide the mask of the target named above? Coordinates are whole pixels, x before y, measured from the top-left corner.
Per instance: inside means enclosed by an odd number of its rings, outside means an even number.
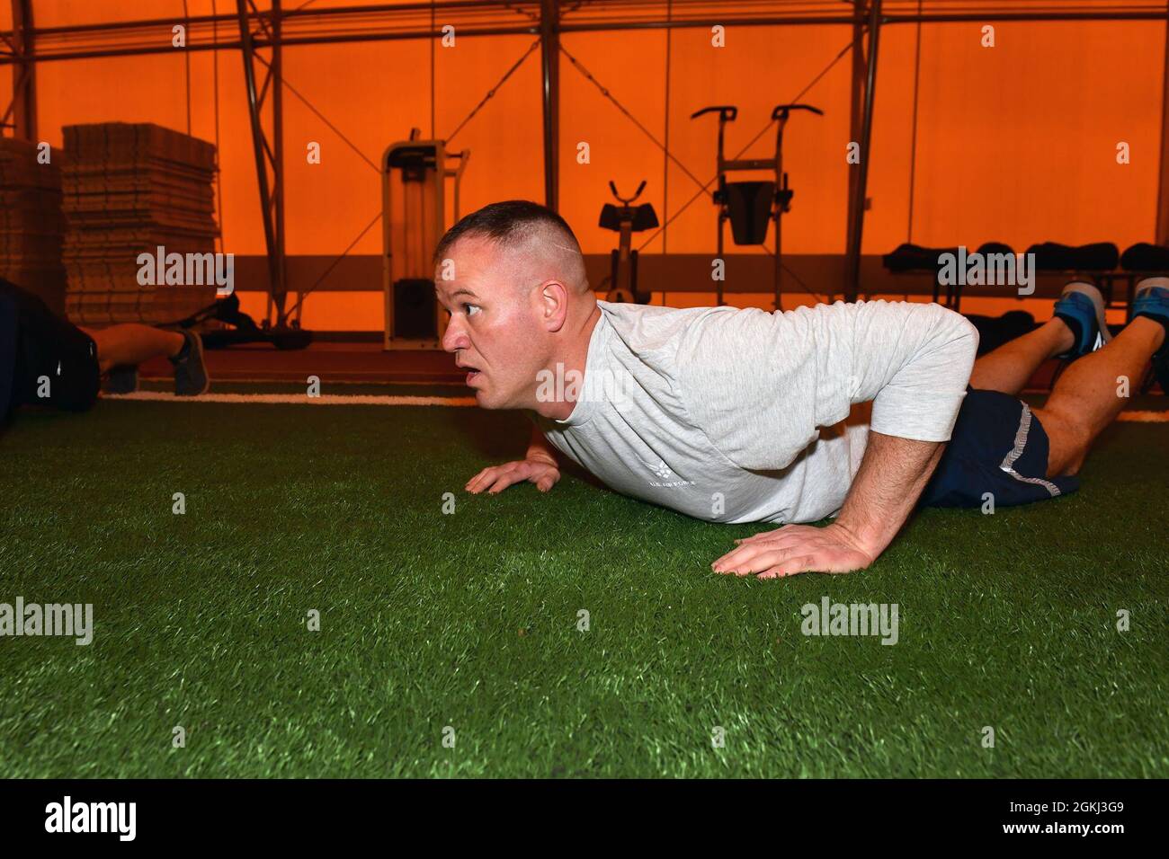
[[[1160,323],[1137,317],[1111,344],[1064,372],[1046,404],[1035,409],[1051,443],[1047,477],[1080,470],[1092,442],[1128,402],[1120,396],[1121,377],[1135,388],[1164,338]]]

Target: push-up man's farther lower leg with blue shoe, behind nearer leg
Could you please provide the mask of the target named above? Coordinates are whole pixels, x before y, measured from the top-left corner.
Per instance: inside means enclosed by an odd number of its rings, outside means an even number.
[[[1049,358],[1077,358],[1111,339],[1104,323],[1104,296],[1092,284],[1067,284],[1056,302],[1054,313],[1035,331],[975,361],[970,387],[1015,396]]]

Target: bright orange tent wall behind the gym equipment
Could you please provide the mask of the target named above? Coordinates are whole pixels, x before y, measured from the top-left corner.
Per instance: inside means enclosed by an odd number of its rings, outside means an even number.
[[[317,7],[360,5],[319,0]],[[192,15],[209,14],[210,0],[189,0]],[[217,0],[220,13],[234,9]],[[2,26],[11,27],[11,9]],[[91,21],[181,20],[180,0],[46,0],[35,6],[39,27]],[[864,252],[904,241],[943,245],[1003,241],[1022,250],[1037,241],[1112,241],[1121,248],[1155,240],[1161,153],[1165,26],[1160,22],[996,23],[994,48],[981,46],[981,25],[920,28],[915,178],[909,231],[913,88],[919,28],[883,28]],[[234,35],[234,28],[231,33]],[[665,141],[664,30],[570,33],[572,54],[658,140]],[[794,98],[850,43],[846,27],[729,28],[725,48],[710,33],[679,29],[671,36],[669,145],[700,182],[714,172],[715,120],[689,116],[708,104],[739,105],[727,129],[727,152],[738,153],[768,125],[774,104]],[[532,43],[528,36],[458,37],[435,48],[434,131],[449,134],[489,88]],[[431,132],[430,51],[426,41],[330,44],[285,49],[286,83],[376,162],[385,147]],[[219,65],[219,136],[224,250],[262,254],[263,230],[238,51],[189,54],[191,131],[215,140],[215,64]],[[784,220],[786,252],[844,250],[851,58],[842,58],[802,101],[823,118],[797,116],[788,126],[784,165],[796,190]],[[699,189],[597,88],[561,61],[560,210],[586,252],[607,252],[614,235],[596,227],[607,182],[635,188],[648,179],[644,201],[659,215],[676,213]],[[0,85],[11,91],[11,70]],[[61,127],[85,122],[154,122],[187,130],[186,55],[41,63],[37,68],[40,137],[55,146]],[[289,254],[340,254],[380,210],[375,169],[285,90],[285,171]],[[305,158],[321,145],[321,164]],[[576,158],[587,141],[589,164]],[[1129,144],[1132,160],[1116,162]],[[773,132],[742,157],[766,157]],[[472,152],[462,192],[463,212],[493,200],[544,199],[539,50],[452,140]],[[711,252],[714,213],[708,198],[689,206],[643,252]],[[740,250],[740,249],[736,249]],[[353,248],[379,254],[375,226]],[[814,285],[815,286],[815,285]],[[835,284],[823,285],[826,292]],[[667,285],[658,285],[659,289]],[[247,289],[247,285],[243,285]],[[682,299],[677,302],[675,299]],[[707,297],[671,295],[672,303]],[[1007,306],[1023,306],[1001,302]],[[260,297],[245,307],[263,312]],[[1038,311],[1042,316],[1044,311]],[[381,296],[321,292],[305,303],[306,327],[378,330]]]

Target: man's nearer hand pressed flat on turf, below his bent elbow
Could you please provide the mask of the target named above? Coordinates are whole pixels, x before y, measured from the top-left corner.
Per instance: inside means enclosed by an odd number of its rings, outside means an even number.
[[[862,546],[844,526],[832,522],[823,528],[786,525],[743,540],[711,564],[715,573],[734,573],[760,579],[779,579],[798,573],[851,573],[865,569],[877,553]]]

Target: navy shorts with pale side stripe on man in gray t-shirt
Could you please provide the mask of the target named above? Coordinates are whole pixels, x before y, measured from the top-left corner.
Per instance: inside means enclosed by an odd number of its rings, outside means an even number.
[[[1047,434],[1031,408],[1009,394],[967,388],[954,435],[921,493],[922,507],[1030,504],[1079,489],[1047,476]]]

